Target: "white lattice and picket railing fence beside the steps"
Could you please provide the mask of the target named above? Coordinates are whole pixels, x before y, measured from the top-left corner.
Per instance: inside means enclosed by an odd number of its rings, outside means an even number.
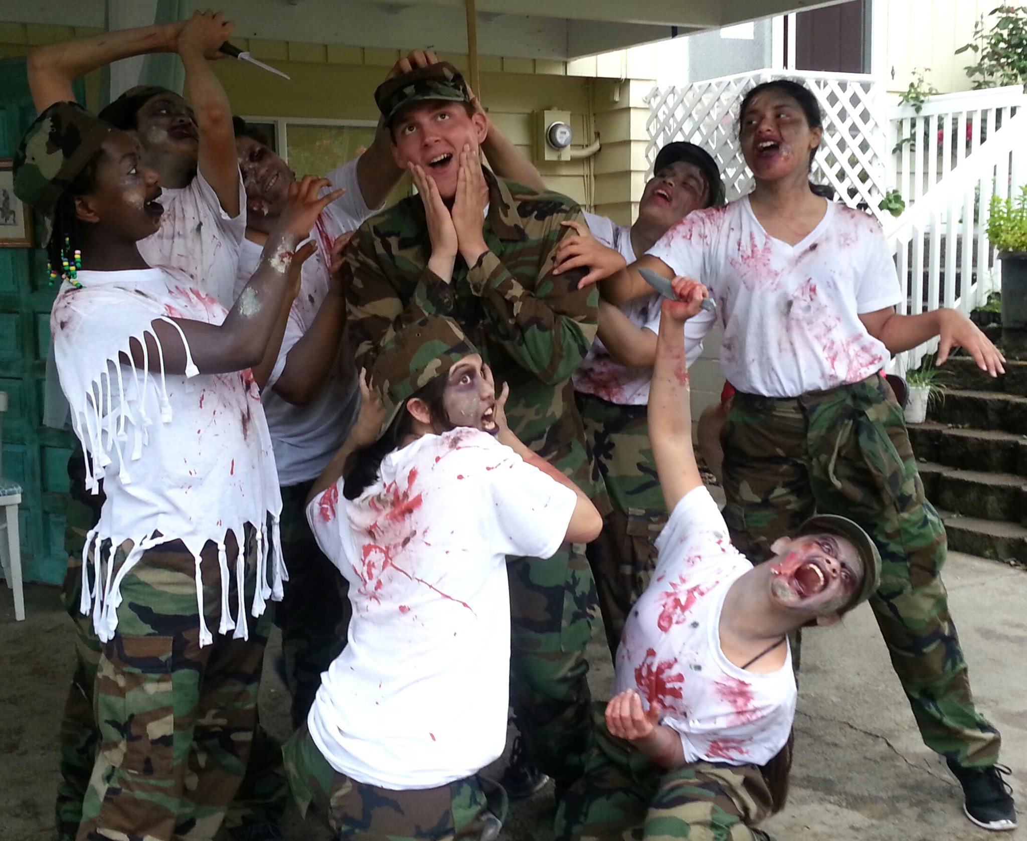
[[[646,99],[650,165],[664,144],[689,141],[713,154],[729,199],[748,193],[752,175],[737,142],[737,108],[750,87],[775,78],[799,79],[815,92],[824,141],[810,178],[881,223],[906,283],[900,311],[969,312],[1000,288],[1000,263],[985,229],[991,197],[1012,197],[1027,179],[1027,95],[1020,86],[931,97],[920,113],[889,106],[879,83],[862,74],[764,70],[653,88]],[[880,207],[893,191],[905,202],[898,218]],[[915,367],[933,349],[921,345],[895,367]]]

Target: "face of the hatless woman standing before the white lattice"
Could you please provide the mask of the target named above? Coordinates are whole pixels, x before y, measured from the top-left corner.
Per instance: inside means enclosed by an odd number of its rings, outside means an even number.
[[[741,153],[760,181],[776,181],[796,169],[809,170],[810,153],[823,129],[810,128],[799,103],[770,88],[755,95],[741,115]]]

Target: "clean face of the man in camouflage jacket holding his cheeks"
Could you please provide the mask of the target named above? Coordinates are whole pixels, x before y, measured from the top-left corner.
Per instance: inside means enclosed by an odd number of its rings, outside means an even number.
[[[459,153],[469,145],[477,153],[485,140],[485,115],[468,114],[463,103],[426,101],[400,112],[392,120],[392,155],[406,169],[416,163],[434,179],[439,194],[456,195]]]

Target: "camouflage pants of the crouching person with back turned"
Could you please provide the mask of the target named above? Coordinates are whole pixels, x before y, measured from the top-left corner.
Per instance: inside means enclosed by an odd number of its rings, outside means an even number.
[[[300,813],[306,815],[314,803],[328,814],[340,841],[469,841],[482,836],[490,804],[477,776],[410,791],[357,782],[329,765],[305,724],[282,746],[282,754]],[[504,808],[493,811],[504,817]]]

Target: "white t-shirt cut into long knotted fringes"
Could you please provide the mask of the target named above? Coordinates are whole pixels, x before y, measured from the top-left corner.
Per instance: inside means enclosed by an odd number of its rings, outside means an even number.
[[[220,324],[227,310],[198,292],[182,271],[80,271],[78,280],[81,289],[67,282],[61,288],[50,312],[50,332],[72,426],[86,454],[86,489],[97,493],[103,480],[107,496],[100,522],[82,550],[81,611],[91,610],[100,639],[110,640],[117,627],[125,574],[147,549],[181,540],[196,559],[200,645],[211,643],[203,621],[200,551],[212,540],[218,545],[221,566],[218,629],[226,634],[234,628],[236,638],[246,639],[245,525],[257,534],[253,616],[264,612],[268,598],[281,598],[284,572],[277,535],[281,497],[260,392],[249,369],[200,374],[184,335],[186,372],[166,373],[163,348],[152,327],[154,320],[163,320],[181,334],[173,317]],[[156,371],[137,366],[129,354],[131,339],[147,352],[146,335],[157,345]],[[225,539],[229,533],[240,547],[234,610],[228,603],[231,573]],[[101,546],[108,539],[110,550],[102,558]],[[113,569],[115,550],[125,540],[132,542],[132,548]],[[90,549],[91,587],[86,570]]]

